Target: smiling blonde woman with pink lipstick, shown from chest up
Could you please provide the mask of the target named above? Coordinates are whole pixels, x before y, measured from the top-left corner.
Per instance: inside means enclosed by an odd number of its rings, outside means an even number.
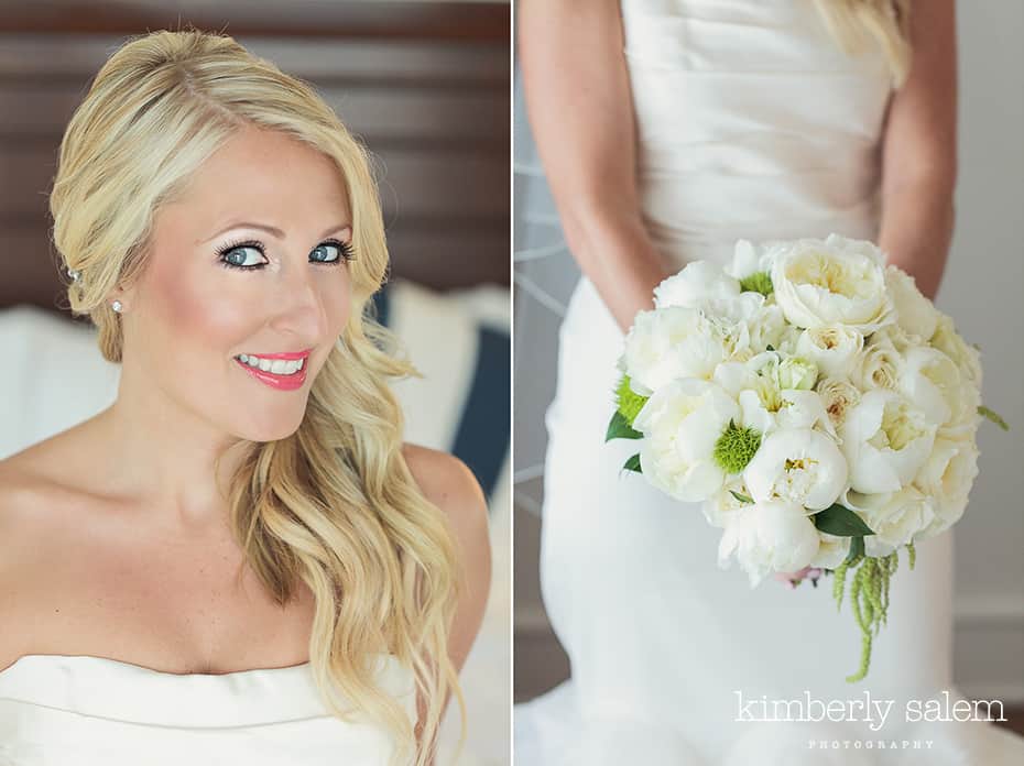
[[[402,442],[364,151],[231,37],[157,32],[100,69],[50,201],[121,377],[0,463],[0,763],[433,763],[487,514]]]

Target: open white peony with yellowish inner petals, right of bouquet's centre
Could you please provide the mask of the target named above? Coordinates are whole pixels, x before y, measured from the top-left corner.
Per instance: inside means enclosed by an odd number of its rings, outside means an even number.
[[[908,484],[932,453],[936,426],[902,394],[869,391],[839,428],[842,453],[857,492],[895,492]]]

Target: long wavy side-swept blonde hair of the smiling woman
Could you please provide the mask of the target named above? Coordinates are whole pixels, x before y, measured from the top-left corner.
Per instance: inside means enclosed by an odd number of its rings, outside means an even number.
[[[249,442],[231,478],[230,523],[246,560],[279,605],[299,579],[316,611],[311,667],[342,720],[369,711],[416,766],[436,749],[444,703],[466,705],[447,639],[460,559],[446,515],[420,492],[402,458],[402,412],[386,379],[415,374],[372,318],[388,251],[366,150],[312,86],[232,37],[196,30],[130,39],[106,62],[61,142],[50,209],[75,314],[99,330],[104,357],[122,353],[120,315],[106,297],[145,262],[156,210],[183,193],[203,162],[247,125],[280,131],[333,160],[352,215],[352,311],[287,438]],[[386,650],[412,669],[426,700],[414,727],[374,683],[366,660]],[[339,697],[340,694],[340,697]],[[355,711],[346,709],[349,700]],[[418,730],[418,731],[417,731]],[[423,742],[416,747],[416,736]],[[403,760],[407,763],[407,760]]]

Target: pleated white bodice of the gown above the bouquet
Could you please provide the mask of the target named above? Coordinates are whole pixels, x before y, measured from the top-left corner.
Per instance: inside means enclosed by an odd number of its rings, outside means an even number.
[[[813,0],[622,0],[649,231],[673,260],[739,238],[876,239],[892,92]]]

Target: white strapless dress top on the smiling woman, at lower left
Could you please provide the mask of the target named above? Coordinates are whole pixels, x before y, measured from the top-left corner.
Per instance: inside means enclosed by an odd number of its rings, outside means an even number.
[[[378,663],[415,722],[412,670],[394,655]],[[177,675],[25,655],[0,671],[0,766],[389,766],[392,736],[331,716],[311,667]]]

